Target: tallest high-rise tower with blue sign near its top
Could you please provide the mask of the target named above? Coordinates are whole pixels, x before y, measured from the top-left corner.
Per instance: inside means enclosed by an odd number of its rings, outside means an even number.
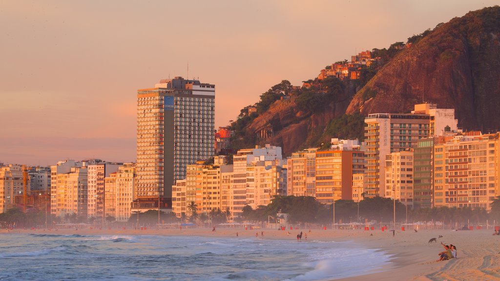
[[[137,90],[137,201],[170,205],[172,185],[186,166],[214,154],[215,85],[182,77]]]

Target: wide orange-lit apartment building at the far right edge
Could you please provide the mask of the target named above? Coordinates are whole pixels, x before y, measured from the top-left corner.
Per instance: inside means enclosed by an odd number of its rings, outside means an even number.
[[[434,143],[434,205],[490,209],[500,175],[498,133]]]

